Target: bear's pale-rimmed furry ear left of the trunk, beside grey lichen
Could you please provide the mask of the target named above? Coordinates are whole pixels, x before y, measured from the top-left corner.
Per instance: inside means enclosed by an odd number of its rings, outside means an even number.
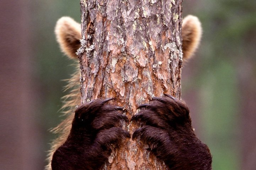
[[[70,17],[61,17],[56,23],[55,34],[62,52],[77,59],[76,51],[82,39],[81,25]]]

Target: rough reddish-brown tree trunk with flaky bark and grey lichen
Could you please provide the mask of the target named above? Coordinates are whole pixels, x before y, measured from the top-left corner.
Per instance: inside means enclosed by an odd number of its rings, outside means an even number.
[[[81,103],[116,97],[126,115],[163,93],[181,95],[182,0],[81,0]],[[131,134],[138,128],[127,123]],[[138,141],[127,140],[105,169],[166,169]]]

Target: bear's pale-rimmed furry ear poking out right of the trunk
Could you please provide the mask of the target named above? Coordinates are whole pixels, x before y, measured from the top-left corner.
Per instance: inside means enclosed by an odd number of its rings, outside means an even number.
[[[201,40],[201,22],[195,16],[188,15],[182,23],[182,51],[183,59],[186,61],[196,51]]]

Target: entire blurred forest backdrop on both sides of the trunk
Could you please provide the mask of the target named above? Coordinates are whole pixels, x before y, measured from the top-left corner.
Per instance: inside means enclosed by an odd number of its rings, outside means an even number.
[[[62,16],[80,22],[80,1],[0,2],[0,169],[44,169],[73,73],[55,40]],[[203,27],[200,48],[182,70],[182,98],[214,170],[256,168],[256,1],[184,0],[183,16]]]

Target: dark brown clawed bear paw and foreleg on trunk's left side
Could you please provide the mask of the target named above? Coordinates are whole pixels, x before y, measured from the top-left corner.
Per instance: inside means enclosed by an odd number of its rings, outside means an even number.
[[[107,104],[108,99],[96,99],[79,106],[75,111],[66,142],[53,155],[53,170],[96,170],[107,161],[113,149],[129,132],[121,128],[124,108]]]

